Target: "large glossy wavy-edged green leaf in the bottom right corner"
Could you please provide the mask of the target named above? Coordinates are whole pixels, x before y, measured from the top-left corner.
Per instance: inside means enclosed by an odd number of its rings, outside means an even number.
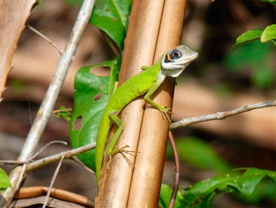
[[[241,169],[246,171],[242,174]],[[182,207],[210,207],[216,194],[237,192],[250,195],[259,181],[268,176],[275,181],[275,171],[257,168],[239,168],[224,176],[215,176],[196,183],[182,192]]]

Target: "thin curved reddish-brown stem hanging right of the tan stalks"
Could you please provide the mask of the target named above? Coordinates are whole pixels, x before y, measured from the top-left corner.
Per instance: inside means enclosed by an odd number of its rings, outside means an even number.
[[[173,149],[174,160],[175,160],[175,181],[174,181],[173,193],[172,193],[170,204],[169,204],[169,208],[173,208],[177,190],[178,190],[178,186],[179,186],[179,181],[180,181],[180,163],[179,163],[179,157],[178,157],[177,148],[176,148],[174,135],[173,135],[172,131],[169,131],[169,140],[170,140],[170,143],[171,143],[171,146]]]

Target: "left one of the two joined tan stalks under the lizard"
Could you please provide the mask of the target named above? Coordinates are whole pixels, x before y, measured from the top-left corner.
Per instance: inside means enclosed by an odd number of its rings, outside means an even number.
[[[164,0],[134,0],[132,2],[119,75],[120,84],[141,72],[141,66],[153,64],[163,7]],[[135,99],[121,112],[121,119],[125,126],[117,142],[118,147],[129,145],[128,150],[136,150],[144,106],[143,98]],[[112,136],[112,133],[110,134]],[[133,153],[134,156],[125,155],[134,164],[135,153]],[[109,163],[110,169],[107,168],[108,161],[109,157],[105,154],[95,207],[126,207],[132,167],[121,154],[112,156],[112,161]]]

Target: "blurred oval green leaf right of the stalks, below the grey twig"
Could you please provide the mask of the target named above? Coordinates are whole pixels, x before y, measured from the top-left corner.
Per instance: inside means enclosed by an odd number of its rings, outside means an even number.
[[[181,161],[203,169],[212,169],[218,173],[230,171],[230,165],[223,160],[207,142],[195,138],[176,139],[177,151]]]

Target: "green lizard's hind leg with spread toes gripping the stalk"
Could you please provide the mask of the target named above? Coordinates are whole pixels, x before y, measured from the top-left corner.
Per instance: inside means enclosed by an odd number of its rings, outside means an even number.
[[[126,150],[125,148],[128,148],[128,145],[125,145],[123,147],[117,148],[116,143],[117,140],[119,138],[119,136],[121,135],[121,132],[123,130],[124,127],[124,123],[123,121],[118,117],[118,112],[113,111],[111,113],[109,113],[108,115],[109,120],[111,121],[111,123],[116,124],[118,126],[118,129],[116,130],[114,136],[112,137],[110,144],[107,148],[107,153],[108,155],[110,155],[110,159],[108,162],[108,168],[109,168],[109,163],[112,159],[112,155],[117,154],[117,153],[121,153],[122,156],[124,157],[124,159],[127,161],[127,163],[134,168],[134,165],[131,163],[131,161],[126,157],[125,153],[127,154],[131,154],[130,152],[138,152],[138,151],[130,151],[130,150]],[[132,154],[131,154],[132,155]],[[134,156],[134,155],[132,155]]]

